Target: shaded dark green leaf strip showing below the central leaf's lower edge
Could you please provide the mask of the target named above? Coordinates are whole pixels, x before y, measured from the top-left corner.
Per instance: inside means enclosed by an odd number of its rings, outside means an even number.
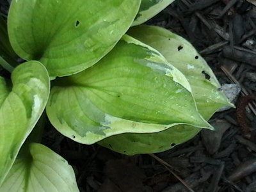
[[[129,156],[152,154],[184,143],[198,134],[200,130],[200,128],[189,125],[176,125],[161,132],[118,134],[101,140],[98,144]]]

